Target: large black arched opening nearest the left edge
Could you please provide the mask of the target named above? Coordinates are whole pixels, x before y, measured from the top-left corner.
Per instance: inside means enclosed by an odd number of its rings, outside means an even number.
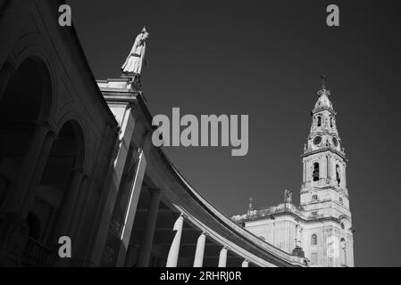
[[[0,94],[0,208],[21,172],[35,122],[48,116],[51,97],[51,77],[38,58],[23,61]]]

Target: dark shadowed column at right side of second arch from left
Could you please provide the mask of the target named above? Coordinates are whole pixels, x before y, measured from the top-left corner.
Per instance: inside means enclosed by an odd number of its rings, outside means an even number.
[[[74,206],[77,202],[82,178],[84,176],[82,169],[73,169],[71,172],[71,182],[69,187],[64,190],[63,200],[58,209],[57,220],[54,232],[52,233],[52,240],[54,242],[57,242],[57,240],[64,235],[71,238],[71,232],[68,232],[68,229],[70,227]]]

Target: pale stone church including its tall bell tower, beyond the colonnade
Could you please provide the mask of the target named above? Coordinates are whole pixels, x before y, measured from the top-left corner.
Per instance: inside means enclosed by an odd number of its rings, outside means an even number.
[[[324,78],[323,78],[324,79]],[[300,206],[285,191],[278,206],[254,209],[232,219],[261,240],[289,254],[305,256],[310,266],[354,266],[354,227],[347,189],[347,158],[336,124],[330,91],[322,80],[312,110],[312,126],[302,154]]]

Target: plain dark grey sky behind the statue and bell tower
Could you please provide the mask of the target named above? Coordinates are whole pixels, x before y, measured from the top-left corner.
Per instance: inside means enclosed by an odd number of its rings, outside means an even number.
[[[165,149],[226,215],[299,201],[300,155],[319,76],[346,147],[355,265],[400,266],[401,34],[397,1],[82,1],[72,20],[98,79],[119,77],[138,32],[150,32],[143,91],[151,112],[249,115],[249,152]],[[326,26],[338,4],[340,27]]]

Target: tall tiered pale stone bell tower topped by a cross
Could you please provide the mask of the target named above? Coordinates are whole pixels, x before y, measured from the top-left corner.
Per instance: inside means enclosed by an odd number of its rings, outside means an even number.
[[[303,163],[300,203],[308,220],[304,249],[312,265],[353,266],[353,232],[347,190],[347,158],[338,134],[337,113],[322,77],[312,110]]]

